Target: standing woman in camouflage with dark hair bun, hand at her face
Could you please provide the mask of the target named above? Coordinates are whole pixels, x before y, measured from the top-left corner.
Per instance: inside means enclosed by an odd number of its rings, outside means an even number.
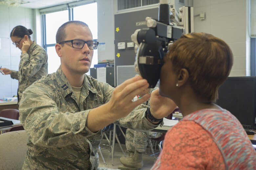
[[[18,80],[18,104],[22,92],[33,82],[48,73],[48,57],[45,49],[31,40],[31,29],[15,26],[11,31],[12,44],[21,50],[19,71],[1,68],[5,75]]]

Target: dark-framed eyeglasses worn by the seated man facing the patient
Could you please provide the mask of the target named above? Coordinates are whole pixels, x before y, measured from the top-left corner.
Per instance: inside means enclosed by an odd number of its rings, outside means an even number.
[[[66,43],[66,42],[71,42],[73,48],[83,48],[84,44],[87,43],[88,48],[92,50],[97,49],[99,44],[99,42],[96,42],[96,41],[83,41],[83,40],[67,40],[67,41],[59,42],[59,44]]]

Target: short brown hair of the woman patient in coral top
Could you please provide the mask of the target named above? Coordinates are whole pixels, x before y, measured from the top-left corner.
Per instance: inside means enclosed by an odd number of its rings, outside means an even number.
[[[207,33],[183,35],[172,45],[166,57],[171,59],[175,73],[182,68],[188,70],[188,82],[193,91],[209,102],[218,99],[218,89],[233,65],[229,46]]]

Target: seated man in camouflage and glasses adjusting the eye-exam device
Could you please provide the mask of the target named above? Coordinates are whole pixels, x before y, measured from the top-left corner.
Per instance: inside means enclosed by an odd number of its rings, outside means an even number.
[[[157,97],[151,96],[150,109],[139,105],[149,94],[132,102],[136,94],[148,87],[140,76],[114,89],[86,75],[93,49],[97,48],[97,42],[92,40],[92,33],[83,22],[69,21],[61,25],[55,44],[61,66],[23,93],[19,109],[29,136],[23,169],[102,169],[98,168],[97,149],[103,127],[115,123],[149,130],[161,121],[149,121],[148,110],[156,119],[173,110],[170,104],[175,104],[159,93],[154,94]]]

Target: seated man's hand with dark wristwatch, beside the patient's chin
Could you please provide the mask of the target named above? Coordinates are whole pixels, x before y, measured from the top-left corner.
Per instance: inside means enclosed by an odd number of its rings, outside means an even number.
[[[160,96],[159,89],[154,90],[150,97],[150,112],[156,119],[168,116],[177,107],[170,98]]]

